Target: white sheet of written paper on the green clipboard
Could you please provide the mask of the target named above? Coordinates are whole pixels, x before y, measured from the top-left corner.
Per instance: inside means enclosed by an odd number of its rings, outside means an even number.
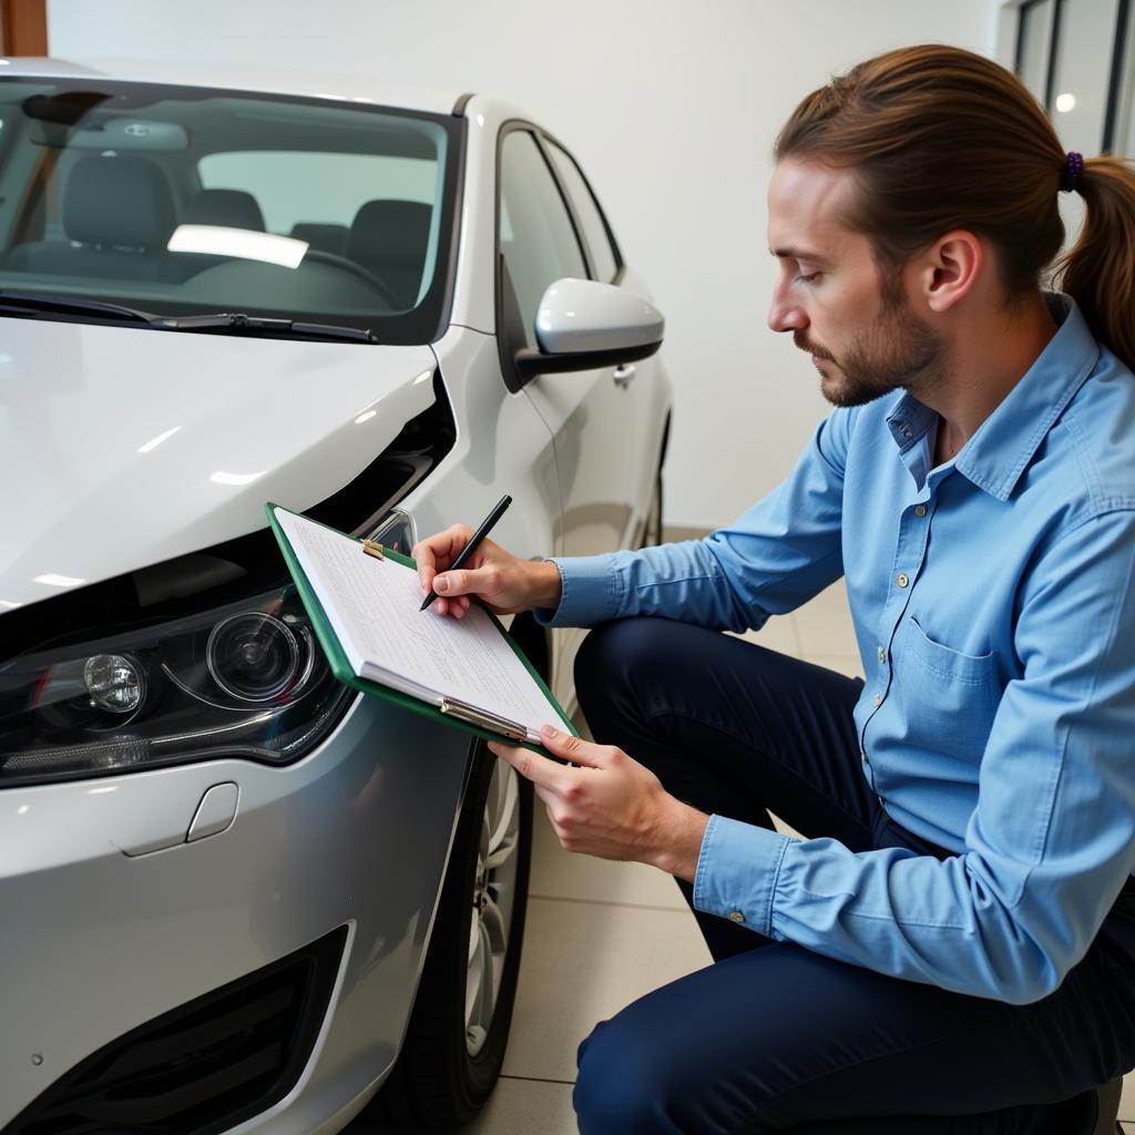
[[[362,545],[284,508],[276,510],[354,672],[437,705],[465,701],[516,722],[529,740],[560,714],[488,613],[473,604],[460,621],[432,608],[412,568],[367,555]]]

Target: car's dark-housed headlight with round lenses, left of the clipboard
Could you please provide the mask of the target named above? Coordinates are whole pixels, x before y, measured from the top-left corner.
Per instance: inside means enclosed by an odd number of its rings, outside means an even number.
[[[0,788],[309,751],[342,716],[293,588],[0,665]]]

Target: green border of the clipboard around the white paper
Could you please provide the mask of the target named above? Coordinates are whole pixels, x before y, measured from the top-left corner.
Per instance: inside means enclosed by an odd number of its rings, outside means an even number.
[[[330,667],[331,673],[340,682],[343,682],[344,686],[350,686],[352,689],[359,690],[362,693],[373,693],[378,697],[386,698],[388,701],[393,701],[395,705],[400,705],[404,709],[410,709],[424,717],[430,717],[434,721],[440,722],[443,725],[449,726],[451,729],[459,729],[464,733],[471,733],[473,737],[479,737],[482,740],[507,741],[510,745],[520,746],[526,749],[531,749],[533,753],[540,753],[544,756],[549,756],[554,760],[563,759],[548,753],[541,745],[536,745],[531,741],[512,741],[511,739],[503,737],[501,733],[494,733],[490,730],[481,729],[466,721],[462,721],[460,717],[452,717],[448,714],[444,714],[437,706],[430,705],[428,701],[422,701],[420,698],[411,697],[409,693],[403,693],[402,690],[395,690],[389,686],[380,686],[378,682],[360,678],[352,669],[351,663],[347,661],[347,656],[344,653],[343,647],[339,645],[338,637],[336,636],[335,630],[323,611],[322,604],[316,596],[311,583],[308,582],[308,577],[304,573],[303,568],[300,565],[300,561],[296,557],[295,552],[292,549],[292,543],[288,540],[287,533],[283,528],[280,528],[279,521],[276,519],[277,508],[283,508],[284,512],[291,512],[295,516],[303,516],[303,513],[295,512],[284,505],[274,504],[271,501],[264,505],[264,511],[268,513],[268,523],[271,527],[272,535],[276,537],[276,541],[280,546],[280,552],[284,555],[284,562],[287,564],[288,572],[295,583],[300,602],[303,603],[304,611],[308,612],[308,617],[311,620],[311,629],[316,632],[316,638],[327,657],[327,665]],[[311,520],[310,516],[304,516],[303,519],[311,521],[313,524],[319,524],[319,521]],[[320,528],[326,528],[329,532],[336,532],[339,536],[347,535],[346,532],[340,532],[337,528],[331,528],[330,524],[320,524]],[[362,540],[358,537],[351,536],[348,539],[356,540],[359,546],[362,546]],[[415,566],[414,561],[411,560],[410,556],[403,555],[401,552],[384,548],[384,555],[393,560],[395,563],[403,564],[406,568]],[[564,731],[571,733],[572,737],[579,737],[579,730],[577,730],[572,724],[568,714],[563,712],[560,703],[552,696],[552,691],[547,688],[539,673],[537,673],[536,667],[528,661],[524,651],[520,649],[513,637],[504,629],[504,627],[501,625],[501,620],[487,608],[486,614],[493,620],[494,625],[504,637],[504,640],[508,644],[508,646],[512,647],[516,657],[524,664],[524,669],[532,675],[536,684],[548,699],[548,704],[558,714],[560,723]]]

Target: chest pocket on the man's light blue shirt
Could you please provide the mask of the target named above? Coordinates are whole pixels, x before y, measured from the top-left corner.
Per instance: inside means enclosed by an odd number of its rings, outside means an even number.
[[[931,638],[913,615],[894,651],[896,690],[908,739],[918,748],[980,763],[1001,700],[993,654],[955,650]]]

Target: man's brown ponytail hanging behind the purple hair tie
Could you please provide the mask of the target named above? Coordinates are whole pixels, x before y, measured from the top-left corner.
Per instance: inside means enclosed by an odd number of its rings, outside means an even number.
[[[1053,279],[1079,304],[1092,334],[1135,370],[1135,166],[1090,158],[1076,190],[1086,205],[1084,227]]]

